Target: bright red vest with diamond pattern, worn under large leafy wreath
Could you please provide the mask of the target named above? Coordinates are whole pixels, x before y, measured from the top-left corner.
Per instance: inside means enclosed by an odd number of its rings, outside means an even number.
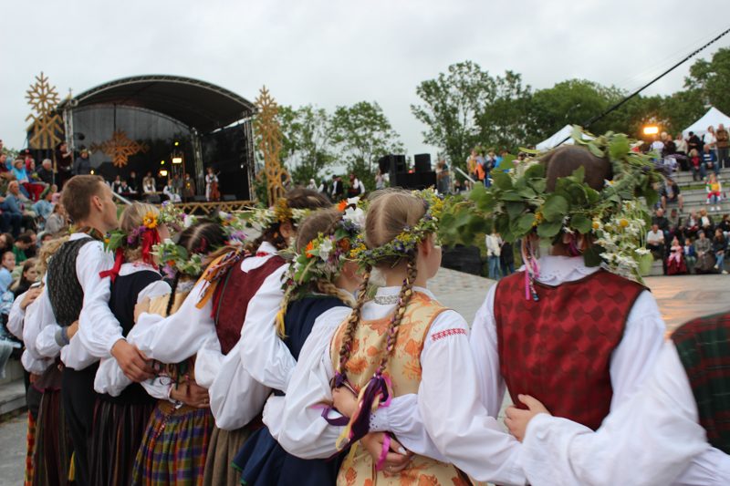
[[[539,301],[525,298],[525,275],[500,280],[495,322],[500,371],[515,404],[532,395],[557,416],[598,429],[609,414],[610,357],[645,287],[599,270],[557,287],[535,283]]]

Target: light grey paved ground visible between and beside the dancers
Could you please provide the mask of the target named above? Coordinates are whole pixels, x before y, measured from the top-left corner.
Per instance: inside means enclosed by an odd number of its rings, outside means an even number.
[[[441,269],[430,287],[443,305],[472,322],[493,284],[486,278]],[[670,330],[693,317],[723,311],[730,303],[730,275],[652,277],[647,284]],[[22,484],[25,449],[25,416],[0,424],[0,486]]]

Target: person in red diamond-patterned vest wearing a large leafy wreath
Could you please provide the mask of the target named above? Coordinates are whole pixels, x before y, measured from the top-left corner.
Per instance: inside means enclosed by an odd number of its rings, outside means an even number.
[[[524,268],[489,290],[470,337],[494,417],[507,388],[516,404],[534,395],[557,415],[598,429],[639,389],[662,345],[659,308],[637,283],[646,259],[637,198],[651,197],[658,176],[625,136],[590,143],[591,150],[562,147],[497,176],[485,201],[474,196],[493,211],[506,241],[523,240]],[[539,259],[538,238],[551,243]],[[597,266],[586,264],[591,258]],[[447,451],[485,480],[478,456]]]

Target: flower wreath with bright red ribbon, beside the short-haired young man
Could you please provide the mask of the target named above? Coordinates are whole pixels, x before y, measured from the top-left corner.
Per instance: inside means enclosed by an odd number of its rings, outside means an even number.
[[[120,229],[108,233],[104,237],[104,249],[115,253],[114,266],[110,270],[101,272],[99,276],[102,278],[109,276],[112,283],[116,280],[121,265],[124,263],[125,249],[140,248],[142,261],[145,264],[153,265],[152,247],[160,243],[160,234],[157,233],[158,224],[158,215],[154,212],[147,212],[142,218],[141,225],[132,229],[130,233],[124,233]]]

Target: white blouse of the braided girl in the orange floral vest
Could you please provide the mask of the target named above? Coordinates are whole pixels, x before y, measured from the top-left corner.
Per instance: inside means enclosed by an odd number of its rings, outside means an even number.
[[[414,290],[433,297],[424,288]],[[384,287],[377,295],[399,292],[400,287]],[[363,305],[361,315],[363,319],[383,318],[394,307],[370,301]],[[328,333],[331,338],[341,322],[322,322],[326,328],[317,332]],[[439,460],[462,455],[478,458],[483,470],[490,471],[490,481],[525,484],[516,439],[486,413],[478,389],[469,386],[477,378],[468,333],[461,315],[452,310],[438,315],[423,342],[422,381],[415,400],[412,395],[394,398],[390,407],[377,410],[378,417],[373,421],[385,422],[387,430],[415,453]],[[328,342],[314,336],[315,331],[302,348],[286,397],[283,401],[272,398],[264,412],[264,422],[272,435],[284,449],[303,459],[331,456],[337,451],[335,442],[342,430],[322,419],[318,408],[332,402],[330,380],[335,372]],[[386,414],[384,419],[381,412]],[[476,436],[470,433],[474,429],[481,432],[479,440],[469,439]]]

